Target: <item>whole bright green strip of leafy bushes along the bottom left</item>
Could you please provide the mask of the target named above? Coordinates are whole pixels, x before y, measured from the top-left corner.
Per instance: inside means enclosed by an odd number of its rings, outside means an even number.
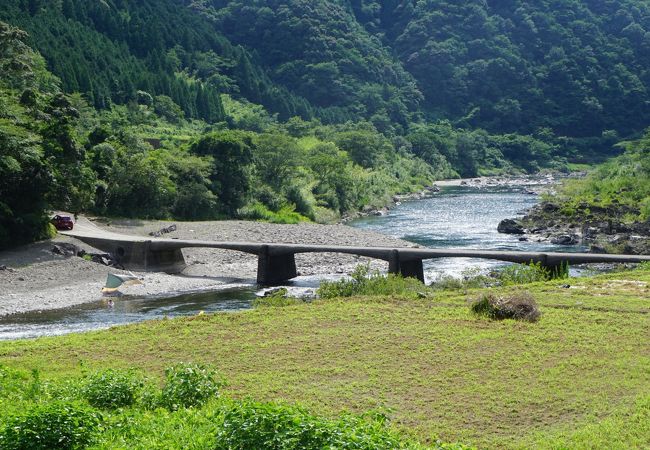
[[[25,373],[0,367],[0,447],[3,449],[91,448],[409,448],[466,449],[462,445],[424,447],[390,429],[378,412],[326,418],[288,404],[216,398],[213,371],[197,364],[166,370],[162,392],[154,384],[140,391],[132,371],[100,370],[87,379],[44,380],[34,390]],[[173,393],[169,384],[173,383]],[[105,390],[105,393],[102,393]],[[162,402],[172,400],[168,409]],[[57,398],[57,400],[52,400]],[[105,408],[100,414],[80,398]],[[210,401],[208,401],[210,400]],[[119,406],[119,407],[118,407]],[[184,407],[183,407],[184,406]],[[192,406],[189,408],[188,406]]]

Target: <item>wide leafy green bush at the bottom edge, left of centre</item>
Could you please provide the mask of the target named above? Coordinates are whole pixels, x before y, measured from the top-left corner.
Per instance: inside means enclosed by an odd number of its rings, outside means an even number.
[[[383,416],[328,420],[294,406],[247,401],[224,412],[216,449],[406,448],[385,422]]]

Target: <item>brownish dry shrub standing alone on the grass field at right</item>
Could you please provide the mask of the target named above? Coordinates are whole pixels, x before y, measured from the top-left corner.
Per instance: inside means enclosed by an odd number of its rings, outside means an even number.
[[[483,294],[472,303],[471,309],[475,314],[494,320],[537,322],[541,316],[535,299],[527,292],[518,292],[508,297],[499,297],[493,293]]]

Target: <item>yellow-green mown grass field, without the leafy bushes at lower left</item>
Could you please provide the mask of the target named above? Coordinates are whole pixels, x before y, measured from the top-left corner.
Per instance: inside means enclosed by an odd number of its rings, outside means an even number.
[[[502,291],[523,289],[537,323],[477,318],[478,291],[362,297],[4,342],[0,365],[63,379],[200,362],[234,398],[380,409],[423,443],[650,447],[650,270]]]

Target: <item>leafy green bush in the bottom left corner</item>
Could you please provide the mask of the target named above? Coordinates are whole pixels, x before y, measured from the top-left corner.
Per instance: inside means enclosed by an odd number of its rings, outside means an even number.
[[[99,423],[99,413],[87,406],[64,402],[40,404],[6,423],[0,432],[0,448],[85,448],[99,430]]]

